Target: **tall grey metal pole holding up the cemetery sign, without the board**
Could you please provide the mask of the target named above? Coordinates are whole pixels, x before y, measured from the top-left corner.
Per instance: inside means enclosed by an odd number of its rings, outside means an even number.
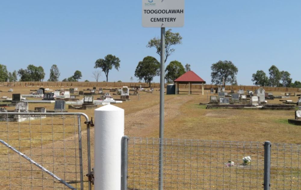
[[[165,27],[161,28],[159,190],[163,190]]]

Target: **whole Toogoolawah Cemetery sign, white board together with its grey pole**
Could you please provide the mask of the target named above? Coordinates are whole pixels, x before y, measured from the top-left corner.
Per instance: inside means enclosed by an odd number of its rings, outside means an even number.
[[[184,0],[142,0],[142,26],[161,28],[159,190],[163,190],[165,27],[183,27]]]

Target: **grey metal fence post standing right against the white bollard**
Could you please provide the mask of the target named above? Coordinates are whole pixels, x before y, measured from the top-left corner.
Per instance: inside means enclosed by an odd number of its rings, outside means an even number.
[[[122,138],[122,158],[121,158],[121,190],[127,190],[127,173],[128,173],[128,136]]]

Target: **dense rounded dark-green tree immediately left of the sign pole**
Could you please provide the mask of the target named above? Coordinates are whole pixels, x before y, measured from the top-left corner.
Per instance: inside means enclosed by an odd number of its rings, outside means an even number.
[[[156,58],[147,56],[143,58],[143,61],[139,61],[138,66],[135,70],[135,77],[139,78],[139,81],[144,79],[145,82],[149,83],[151,87],[151,81],[154,76],[159,76],[160,74],[160,63]]]

